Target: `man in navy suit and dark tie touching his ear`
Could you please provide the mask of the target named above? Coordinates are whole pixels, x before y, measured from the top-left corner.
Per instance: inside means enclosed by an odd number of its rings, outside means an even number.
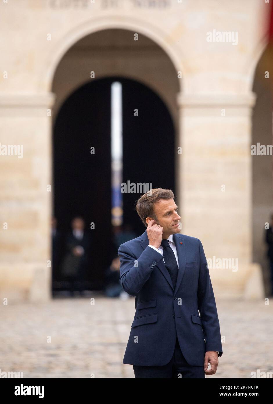
[[[118,249],[120,284],[135,296],[123,359],[135,377],[214,375],[223,354],[204,249],[178,234],[177,209],[170,189],[148,191],[136,204],[147,229]]]

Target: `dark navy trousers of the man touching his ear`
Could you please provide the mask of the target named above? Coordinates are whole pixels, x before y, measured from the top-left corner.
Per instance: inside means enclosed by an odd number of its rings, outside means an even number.
[[[205,377],[204,365],[203,366],[191,366],[185,360],[183,353],[181,352],[178,338],[176,336],[176,344],[172,359],[164,366],[135,366],[134,377],[158,377],[158,378],[189,378],[189,377]]]

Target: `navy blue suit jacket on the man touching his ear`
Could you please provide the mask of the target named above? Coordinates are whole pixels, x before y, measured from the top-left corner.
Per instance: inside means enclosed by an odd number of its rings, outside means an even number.
[[[174,353],[176,333],[190,365],[204,366],[206,351],[223,354],[202,243],[185,234],[173,234],[173,241],[179,262],[175,289],[163,255],[148,246],[146,230],[118,249],[120,284],[135,296],[136,309],[123,363],[166,365]]]

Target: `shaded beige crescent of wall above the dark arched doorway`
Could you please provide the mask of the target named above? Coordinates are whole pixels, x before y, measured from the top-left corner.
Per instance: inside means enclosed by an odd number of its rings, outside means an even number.
[[[89,77],[92,70],[95,80],[124,76],[149,86],[165,102],[178,133],[176,96],[180,92],[180,82],[177,71],[166,52],[153,40],[143,34],[139,34],[139,42],[134,42],[133,38],[133,31],[116,27],[93,32],[72,44],[59,60],[52,77],[50,90],[55,97],[52,124],[65,99],[92,81]]]

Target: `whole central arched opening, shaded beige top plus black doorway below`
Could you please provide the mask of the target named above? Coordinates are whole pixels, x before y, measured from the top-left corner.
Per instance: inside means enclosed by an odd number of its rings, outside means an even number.
[[[136,49],[132,35],[111,29],[83,38],[59,63],[52,86],[56,94],[52,212],[63,235],[69,233],[73,217],[81,216],[85,221],[90,236],[85,289],[103,287],[105,269],[117,255],[116,227],[111,223],[113,82],[122,85],[122,182],[151,184],[175,192],[177,74],[159,46],[143,37]],[[152,66],[156,67],[154,71]],[[88,80],[90,72],[95,78]],[[162,85],[163,74],[166,80]],[[94,154],[90,147],[94,147]],[[134,210],[143,192],[139,187],[139,192],[122,196],[122,224],[130,225],[135,237],[144,231]],[[61,244],[58,263],[53,264],[53,290],[66,288],[60,270],[65,256],[64,237]]]

